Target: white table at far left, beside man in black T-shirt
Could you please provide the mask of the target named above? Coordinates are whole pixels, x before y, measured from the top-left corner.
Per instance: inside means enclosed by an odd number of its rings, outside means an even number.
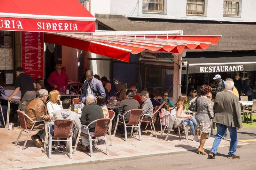
[[[5,95],[1,94],[0,99],[2,100],[7,100],[8,105],[7,105],[7,117],[6,117],[6,124],[5,128],[8,128],[9,121],[10,121],[10,105],[12,101],[19,101],[19,110],[20,110],[20,97],[21,97],[21,92],[18,92],[15,96],[12,97],[11,100],[8,100],[7,98],[12,94],[14,90],[5,90],[4,93]],[[4,118],[3,118],[4,119]]]

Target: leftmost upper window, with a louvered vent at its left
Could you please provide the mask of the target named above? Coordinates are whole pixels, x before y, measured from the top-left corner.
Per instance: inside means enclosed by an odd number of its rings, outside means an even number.
[[[143,0],[143,12],[164,12],[164,0]]]

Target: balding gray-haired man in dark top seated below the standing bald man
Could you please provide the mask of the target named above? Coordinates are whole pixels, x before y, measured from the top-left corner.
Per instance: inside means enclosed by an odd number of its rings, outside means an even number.
[[[88,125],[89,123],[104,118],[103,110],[102,108],[96,104],[96,99],[92,94],[89,94],[86,97],[86,106],[82,109],[82,116],[81,116],[81,123],[83,125]],[[89,126],[90,134],[94,134],[95,124],[92,123]],[[81,132],[84,134],[88,134],[88,131],[85,130],[83,127],[81,129]],[[90,142],[89,138],[87,136],[81,137],[83,145],[79,148],[80,151],[90,151]]]

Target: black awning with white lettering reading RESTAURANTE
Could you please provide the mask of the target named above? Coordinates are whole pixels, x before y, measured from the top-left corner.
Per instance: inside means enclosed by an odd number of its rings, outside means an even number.
[[[185,58],[184,58],[185,59]],[[256,70],[256,56],[186,58],[189,73]]]

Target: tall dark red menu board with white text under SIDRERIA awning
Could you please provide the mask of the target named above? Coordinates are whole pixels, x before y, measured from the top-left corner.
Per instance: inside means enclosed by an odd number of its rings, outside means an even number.
[[[44,79],[44,42],[41,32],[21,32],[22,68],[33,80]]]

